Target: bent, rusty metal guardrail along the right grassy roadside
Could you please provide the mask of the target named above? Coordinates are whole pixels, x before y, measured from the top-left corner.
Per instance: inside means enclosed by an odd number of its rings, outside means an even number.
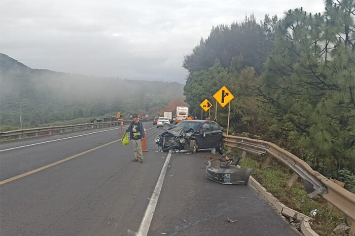
[[[226,134],[223,134],[223,136],[227,147],[238,148],[252,154],[271,155],[281,161],[301,177],[303,186],[310,198],[317,194],[321,195],[322,198],[355,221],[355,194],[314,171],[306,162],[291,152],[263,140]]]

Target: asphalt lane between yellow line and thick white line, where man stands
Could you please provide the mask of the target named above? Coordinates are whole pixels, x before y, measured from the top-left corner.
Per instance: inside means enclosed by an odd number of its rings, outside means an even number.
[[[150,149],[161,129],[147,131]],[[105,146],[0,186],[1,235],[126,235],[137,230],[167,153],[132,163],[131,146]]]

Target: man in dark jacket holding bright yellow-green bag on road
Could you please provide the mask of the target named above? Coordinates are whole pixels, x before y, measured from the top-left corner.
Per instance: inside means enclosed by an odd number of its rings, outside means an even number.
[[[134,159],[132,162],[143,162],[142,139],[146,135],[143,124],[140,123],[137,114],[132,115],[133,122],[129,125],[126,132],[129,132],[129,138],[133,140]]]

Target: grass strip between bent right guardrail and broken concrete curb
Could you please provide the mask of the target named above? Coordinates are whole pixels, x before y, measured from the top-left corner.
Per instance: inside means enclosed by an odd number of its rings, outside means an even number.
[[[333,229],[338,224],[345,223],[342,212],[331,206],[320,196],[315,199],[309,199],[300,178],[291,188],[287,188],[285,184],[289,180],[292,171],[277,163],[275,159],[270,162],[266,170],[260,170],[261,163],[262,159],[259,156],[255,156],[242,159],[239,165],[243,168],[255,169],[252,176],[286,206],[308,216],[310,211],[318,209],[314,221],[311,222],[311,227],[319,235],[339,235],[335,234]],[[344,233],[342,235],[347,234]]]

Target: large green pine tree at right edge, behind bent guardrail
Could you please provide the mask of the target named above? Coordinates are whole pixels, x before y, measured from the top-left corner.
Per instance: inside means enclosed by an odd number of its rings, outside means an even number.
[[[278,121],[274,138],[286,137],[285,145],[329,175],[344,167],[354,171],[355,162],[355,54],[351,37],[335,36],[343,35],[341,26],[348,27],[340,16],[353,28],[346,11],[288,11],[259,90]]]

